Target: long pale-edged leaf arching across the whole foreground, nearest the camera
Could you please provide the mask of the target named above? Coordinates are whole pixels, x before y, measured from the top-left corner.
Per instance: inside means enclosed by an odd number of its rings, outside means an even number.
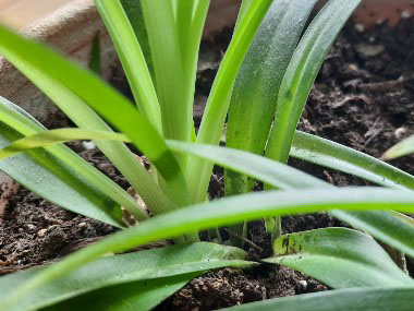
[[[179,237],[183,234],[232,225],[244,220],[281,215],[315,213],[328,210],[395,210],[414,212],[414,198],[410,191],[380,188],[340,188],[300,191],[267,191],[216,200],[188,206],[143,222],[104,241],[89,246],[63,261],[47,267],[34,278],[14,287],[7,298],[0,300],[0,310],[19,310],[26,297],[40,290],[53,279],[107,254],[122,252],[153,241]]]

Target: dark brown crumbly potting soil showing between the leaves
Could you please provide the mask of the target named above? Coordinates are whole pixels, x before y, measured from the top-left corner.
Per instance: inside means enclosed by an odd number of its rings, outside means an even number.
[[[231,37],[231,29],[204,43],[195,98],[198,124],[217,68]],[[127,93],[124,77],[114,74],[113,84]],[[66,121],[62,121],[63,123]],[[68,124],[68,123],[66,123]],[[61,124],[59,124],[61,125]],[[53,124],[56,127],[56,124]],[[358,32],[348,25],[324,63],[312,89],[300,129],[379,157],[388,147],[414,133],[414,19],[403,20],[394,29],[378,25]],[[71,145],[88,162],[124,189],[119,171],[93,146]],[[367,182],[300,160],[291,165],[337,186]],[[414,174],[414,157],[392,163]],[[210,194],[222,195],[222,171],[215,171]],[[325,213],[283,218],[283,232],[340,226]],[[115,229],[63,211],[21,189],[12,198],[0,224],[0,275],[54,261],[101,239]],[[251,255],[268,246],[260,222],[249,227]],[[253,234],[253,235],[252,235]],[[247,247],[248,248],[248,247]],[[409,267],[412,268],[409,261]],[[285,267],[263,266],[252,272],[221,270],[192,280],[159,310],[211,310],[275,297],[326,290],[308,276]]]

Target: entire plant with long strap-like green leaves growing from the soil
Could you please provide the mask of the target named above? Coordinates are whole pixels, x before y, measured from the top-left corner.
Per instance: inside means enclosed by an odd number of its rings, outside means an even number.
[[[260,218],[273,237],[275,254],[264,262],[338,290],[241,309],[297,309],[302,299],[320,310],[338,301],[352,309],[409,308],[413,279],[373,237],[414,256],[413,220],[400,214],[414,211],[414,178],[295,131],[324,58],[360,0],[330,0],[305,32],[316,0],[244,0],[197,134],[193,99],[209,1],[95,2],[135,103],[92,71],[0,26],[0,53],[77,125],[48,131],[1,98],[0,169],[50,202],[123,230],[50,266],[1,277],[1,310],[151,309],[208,270],[258,265],[245,260],[240,239],[227,247],[199,242],[198,232],[229,226],[244,235],[243,223]],[[219,147],[227,116],[227,147]],[[96,142],[146,206],[61,144],[82,139]],[[151,172],[125,142],[147,156]],[[336,188],[287,166],[289,155],[382,187]],[[208,202],[214,164],[226,168],[229,198]],[[266,191],[248,193],[255,180]],[[136,226],[127,228],[121,207]],[[281,236],[281,215],[317,211],[363,232],[328,228]],[[161,239],[176,246],[104,256]]]

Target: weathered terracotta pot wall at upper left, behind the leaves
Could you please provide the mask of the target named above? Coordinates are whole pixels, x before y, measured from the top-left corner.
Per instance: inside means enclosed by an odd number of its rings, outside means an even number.
[[[115,51],[92,0],[72,1],[22,31],[27,36],[48,43],[80,63],[87,62],[92,41],[99,34],[102,61],[106,64],[104,76],[111,74],[111,67],[117,60]],[[41,122],[52,118],[57,111],[56,106],[4,59],[0,59],[0,76],[1,96],[21,106]]]

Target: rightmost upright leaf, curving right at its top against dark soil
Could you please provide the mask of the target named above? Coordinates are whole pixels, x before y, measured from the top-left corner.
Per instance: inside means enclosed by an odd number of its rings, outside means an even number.
[[[361,0],[331,0],[303,35],[280,86],[266,156],[285,163],[299,119],[319,68]]]

